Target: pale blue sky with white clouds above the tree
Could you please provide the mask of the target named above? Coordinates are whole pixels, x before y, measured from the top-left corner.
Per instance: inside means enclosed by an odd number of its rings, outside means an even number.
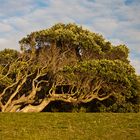
[[[125,44],[140,74],[140,0],[0,0],[0,50],[20,49],[18,41],[56,23],[76,23]]]

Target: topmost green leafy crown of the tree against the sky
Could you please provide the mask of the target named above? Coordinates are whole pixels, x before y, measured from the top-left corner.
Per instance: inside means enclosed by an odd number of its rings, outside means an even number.
[[[33,32],[20,41],[21,49],[34,50],[55,42],[61,50],[71,49],[81,59],[119,59],[128,62],[125,45],[114,47],[102,35],[90,32],[76,24],[56,24],[53,27]],[[65,48],[65,49],[64,49]]]

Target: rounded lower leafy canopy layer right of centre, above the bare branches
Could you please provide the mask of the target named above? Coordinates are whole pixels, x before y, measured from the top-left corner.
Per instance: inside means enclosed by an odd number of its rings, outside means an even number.
[[[92,60],[80,62],[74,67],[64,67],[64,76],[73,79],[74,76],[102,79],[107,83],[127,88],[134,86],[136,75],[134,68],[120,60]],[[79,82],[79,81],[78,81]]]

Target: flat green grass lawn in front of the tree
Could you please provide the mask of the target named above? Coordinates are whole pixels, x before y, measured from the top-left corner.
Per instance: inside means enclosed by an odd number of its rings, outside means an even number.
[[[140,114],[0,113],[0,140],[140,140]]]

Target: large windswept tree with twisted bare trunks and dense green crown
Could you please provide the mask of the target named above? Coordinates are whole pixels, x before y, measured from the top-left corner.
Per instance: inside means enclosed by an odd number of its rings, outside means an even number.
[[[0,67],[2,112],[40,112],[56,101],[139,111],[139,80],[125,45],[113,46],[100,34],[59,23],[27,35],[20,46],[22,54]]]

